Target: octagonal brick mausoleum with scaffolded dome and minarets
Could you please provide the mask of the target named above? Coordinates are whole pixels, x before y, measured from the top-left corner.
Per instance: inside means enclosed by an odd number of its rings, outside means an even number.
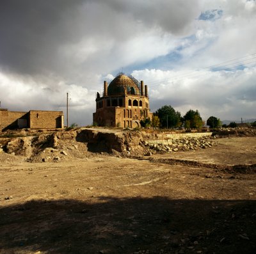
[[[93,123],[108,127],[140,127],[140,120],[152,118],[148,88],[131,75],[118,74],[111,83],[104,81],[104,93],[97,93]]]

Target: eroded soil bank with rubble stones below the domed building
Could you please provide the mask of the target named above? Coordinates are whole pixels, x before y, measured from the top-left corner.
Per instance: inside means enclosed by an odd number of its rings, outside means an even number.
[[[0,135],[0,152],[22,155],[29,162],[58,162],[96,154],[121,157],[151,156],[195,151],[218,146],[218,138],[256,136],[256,129],[179,133],[172,131],[122,131],[75,129],[70,131],[19,131]]]

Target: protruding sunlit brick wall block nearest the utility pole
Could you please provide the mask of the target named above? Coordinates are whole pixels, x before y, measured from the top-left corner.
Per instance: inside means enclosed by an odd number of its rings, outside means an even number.
[[[29,111],[29,127],[35,129],[63,128],[62,111]]]

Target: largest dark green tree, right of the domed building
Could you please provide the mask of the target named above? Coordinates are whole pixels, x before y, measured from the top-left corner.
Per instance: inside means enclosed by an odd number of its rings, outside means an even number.
[[[162,128],[173,128],[181,125],[179,111],[175,111],[170,105],[157,109],[155,115],[158,116]]]

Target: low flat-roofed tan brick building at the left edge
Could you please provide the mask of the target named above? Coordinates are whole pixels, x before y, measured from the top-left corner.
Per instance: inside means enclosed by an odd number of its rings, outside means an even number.
[[[0,131],[7,129],[63,129],[63,111],[8,111],[0,108]]]

